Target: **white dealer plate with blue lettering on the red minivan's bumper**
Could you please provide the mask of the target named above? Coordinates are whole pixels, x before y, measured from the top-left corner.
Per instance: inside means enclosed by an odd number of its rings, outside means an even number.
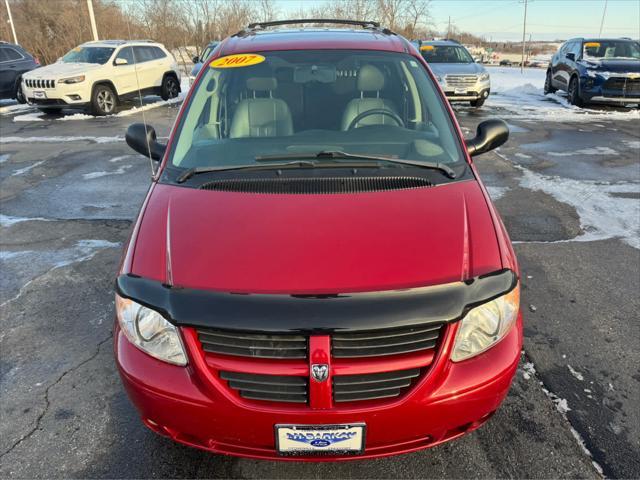
[[[364,452],[364,423],[349,425],[276,425],[281,455],[357,455]]]

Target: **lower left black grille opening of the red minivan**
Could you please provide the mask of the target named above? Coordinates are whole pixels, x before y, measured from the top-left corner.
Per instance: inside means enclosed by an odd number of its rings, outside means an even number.
[[[220,372],[229,387],[250,400],[307,403],[306,377],[259,375],[255,373]]]

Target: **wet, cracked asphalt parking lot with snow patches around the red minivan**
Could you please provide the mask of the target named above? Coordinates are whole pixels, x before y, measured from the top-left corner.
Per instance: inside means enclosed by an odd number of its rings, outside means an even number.
[[[469,137],[489,117],[511,127],[475,161],[522,269],[521,367],[481,429],[374,461],[236,459],[147,430],[112,354],[113,281],[150,179],[124,132],[144,112],[166,137],[179,101],[105,118],[0,105],[0,477],[640,476],[638,110],[579,110],[542,96],[543,71],[504,70],[456,114]]]

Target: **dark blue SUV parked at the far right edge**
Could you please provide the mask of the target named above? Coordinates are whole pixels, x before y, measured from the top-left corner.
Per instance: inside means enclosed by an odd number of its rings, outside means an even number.
[[[640,105],[640,43],[630,38],[573,38],[553,56],[544,93],[567,92],[569,102]]]

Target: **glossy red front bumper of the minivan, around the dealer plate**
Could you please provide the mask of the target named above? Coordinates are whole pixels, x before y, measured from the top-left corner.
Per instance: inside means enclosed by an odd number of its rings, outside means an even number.
[[[506,396],[520,358],[522,318],[496,346],[469,360],[449,361],[457,324],[447,328],[428,373],[403,397],[384,405],[311,409],[257,404],[230,395],[194,351],[183,329],[190,364],[158,361],[134,347],[115,327],[116,362],[143,422],[156,433],[215,453],[280,460],[348,460],[411,452],[459,437],[484,423]],[[282,457],[275,424],[366,424],[357,456]]]

